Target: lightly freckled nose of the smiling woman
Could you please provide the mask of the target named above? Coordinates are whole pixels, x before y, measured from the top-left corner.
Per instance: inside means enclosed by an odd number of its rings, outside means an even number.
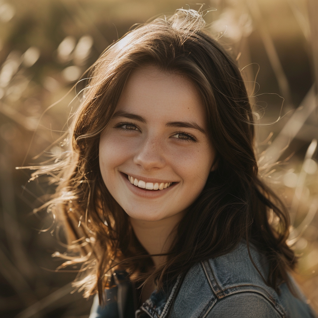
[[[134,163],[143,170],[163,168],[165,166],[162,145],[157,138],[147,138],[143,141],[134,157]]]

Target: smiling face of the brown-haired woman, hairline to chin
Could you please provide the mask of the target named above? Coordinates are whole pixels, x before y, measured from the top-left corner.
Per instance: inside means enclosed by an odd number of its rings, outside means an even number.
[[[204,188],[214,161],[204,107],[184,76],[155,66],[128,78],[100,136],[107,189],[134,219],[157,221],[185,211]]]

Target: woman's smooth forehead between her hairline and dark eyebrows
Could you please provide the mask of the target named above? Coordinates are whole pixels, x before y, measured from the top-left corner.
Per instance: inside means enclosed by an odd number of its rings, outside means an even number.
[[[156,121],[197,121],[204,126],[204,107],[194,84],[183,74],[155,66],[134,70],[125,84],[117,110]]]

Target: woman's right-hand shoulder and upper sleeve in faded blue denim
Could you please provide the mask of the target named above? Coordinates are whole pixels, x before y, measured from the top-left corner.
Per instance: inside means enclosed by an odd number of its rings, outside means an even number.
[[[266,258],[253,246],[250,253],[266,278]],[[295,298],[288,289],[282,294],[283,298]],[[230,253],[195,264],[183,280],[174,310],[183,317],[289,317],[286,304],[282,295],[263,281],[253,266],[246,243],[242,242]],[[225,315],[231,310],[242,314]]]

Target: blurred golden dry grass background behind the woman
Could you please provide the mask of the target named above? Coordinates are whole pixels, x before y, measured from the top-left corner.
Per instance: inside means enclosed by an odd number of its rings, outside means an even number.
[[[63,232],[49,228],[46,212],[32,213],[54,189],[15,168],[62,151],[78,105],[68,92],[109,44],[135,23],[189,6],[204,12],[207,31],[242,70],[260,173],[290,210],[294,277],[318,311],[316,0],[1,0],[1,317],[88,317],[92,299],[72,293],[76,270],[55,272]]]

